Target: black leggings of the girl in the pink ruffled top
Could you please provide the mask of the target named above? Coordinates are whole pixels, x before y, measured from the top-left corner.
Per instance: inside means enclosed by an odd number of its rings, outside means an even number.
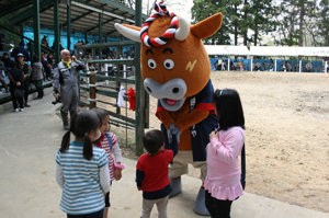
[[[212,197],[208,191],[205,191],[205,205],[212,218],[230,218],[230,206],[232,200],[220,200]]]

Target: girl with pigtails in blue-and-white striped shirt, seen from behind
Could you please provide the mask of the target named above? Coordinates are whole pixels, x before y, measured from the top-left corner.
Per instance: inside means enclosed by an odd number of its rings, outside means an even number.
[[[59,208],[68,218],[103,218],[111,186],[106,152],[92,146],[101,136],[100,122],[92,111],[77,112],[56,152],[56,182],[63,188]],[[70,133],[76,136],[71,142]]]

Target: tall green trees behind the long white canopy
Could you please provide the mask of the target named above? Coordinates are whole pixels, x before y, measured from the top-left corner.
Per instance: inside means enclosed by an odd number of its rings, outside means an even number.
[[[223,13],[219,31],[205,44],[260,44],[272,35],[274,45],[329,46],[329,0],[194,0],[192,19],[197,23]],[[234,35],[234,42],[230,39]],[[270,43],[273,44],[273,43]]]

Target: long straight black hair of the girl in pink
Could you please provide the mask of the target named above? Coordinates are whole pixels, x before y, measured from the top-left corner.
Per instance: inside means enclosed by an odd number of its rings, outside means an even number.
[[[236,90],[216,90],[213,94],[220,129],[227,130],[232,126],[245,129],[243,108],[239,93]]]

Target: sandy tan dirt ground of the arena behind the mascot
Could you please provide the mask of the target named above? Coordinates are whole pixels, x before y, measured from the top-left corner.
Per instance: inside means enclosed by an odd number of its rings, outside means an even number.
[[[216,71],[211,77],[215,89],[240,93],[246,192],[329,213],[329,74]],[[150,97],[150,128],[159,129],[156,105]],[[136,159],[134,130],[112,130],[124,156]],[[198,171],[191,167],[190,175],[197,177]]]

